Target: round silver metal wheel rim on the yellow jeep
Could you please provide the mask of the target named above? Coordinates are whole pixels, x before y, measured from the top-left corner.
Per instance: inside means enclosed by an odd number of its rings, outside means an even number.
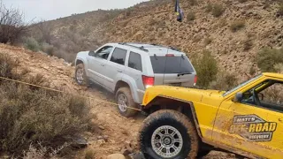
[[[163,158],[172,158],[180,154],[183,138],[176,128],[163,125],[152,134],[151,146],[157,155]]]

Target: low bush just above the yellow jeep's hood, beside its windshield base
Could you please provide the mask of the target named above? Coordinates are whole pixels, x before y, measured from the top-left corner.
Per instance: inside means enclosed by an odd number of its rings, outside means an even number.
[[[217,79],[210,82],[210,88],[227,91],[238,83],[235,73],[218,72]]]

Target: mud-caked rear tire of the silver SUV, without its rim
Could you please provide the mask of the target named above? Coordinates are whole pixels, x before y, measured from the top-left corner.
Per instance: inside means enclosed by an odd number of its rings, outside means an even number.
[[[125,95],[127,107],[137,109],[137,104],[134,102],[134,99],[133,99],[133,96],[131,94],[131,90],[129,89],[129,87],[120,87],[118,89],[115,95],[117,103],[119,103],[119,95]],[[119,113],[124,117],[134,117],[136,113],[138,112],[137,110],[133,110],[130,108],[126,108],[126,111],[123,111],[118,106]]]

